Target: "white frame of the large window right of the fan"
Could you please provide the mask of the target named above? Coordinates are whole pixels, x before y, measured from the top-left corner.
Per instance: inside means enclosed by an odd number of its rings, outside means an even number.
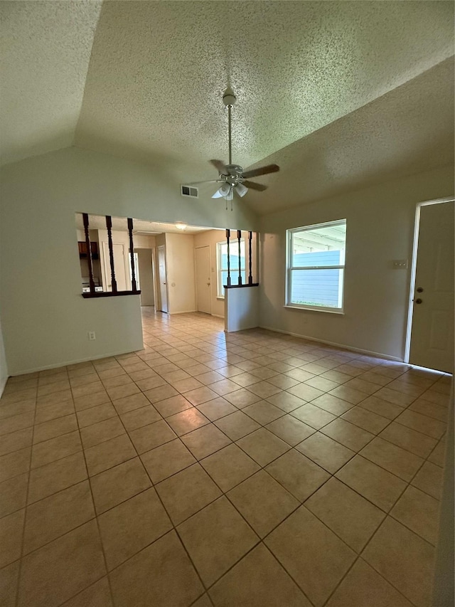
[[[293,266],[293,238],[294,233],[314,230],[316,228],[326,228],[335,226],[346,226],[345,237],[345,255],[343,264],[341,265],[317,265],[317,266]],[[296,310],[314,310],[316,312],[329,312],[331,314],[344,314],[344,290],[345,290],[345,273],[346,273],[346,241],[347,241],[348,221],[346,219],[337,219],[336,221],[324,221],[323,223],[314,223],[311,226],[301,226],[299,228],[290,228],[286,231],[286,287],[285,287],[285,302],[284,307],[291,307]],[[292,290],[292,272],[294,270],[343,270],[341,284],[341,307],[318,306],[311,304],[297,304],[291,302]]]

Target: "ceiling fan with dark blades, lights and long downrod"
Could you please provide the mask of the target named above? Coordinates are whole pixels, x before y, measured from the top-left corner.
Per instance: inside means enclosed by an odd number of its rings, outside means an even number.
[[[212,198],[225,198],[226,201],[234,199],[234,192],[242,197],[245,196],[248,189],[264,191],[267,186],[257,184],[255,181],[250,181],[250,177],[257,177],[259,175],[267,175],[269,173],[276,173],[279,171],[277,164],[267,164],[265,167],[259,169],[252,169],[251,171],[244,171],[240,164],[232,164],[232,127],[231,127],[231,112],[232,106],[235,104],[236,97],[230,88],[225,90],[223,95],[223,103],[228,108],[228,131],[229,131],[229,164],[225,164],[222,160],[210,160],[215,169],[218,169],[218,179],[212,179],[210,181],[197,181],[195,184],[221,184]]]

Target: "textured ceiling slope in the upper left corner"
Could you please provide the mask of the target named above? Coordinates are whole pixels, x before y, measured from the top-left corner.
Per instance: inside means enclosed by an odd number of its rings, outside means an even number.
[[[101,1],[2,1],[1,162],[73,144]]]

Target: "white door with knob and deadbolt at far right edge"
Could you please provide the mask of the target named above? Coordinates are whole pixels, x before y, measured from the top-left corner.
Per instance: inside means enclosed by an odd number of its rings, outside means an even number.
[[[422,205],[410,364],[454,372],[454,206]]]

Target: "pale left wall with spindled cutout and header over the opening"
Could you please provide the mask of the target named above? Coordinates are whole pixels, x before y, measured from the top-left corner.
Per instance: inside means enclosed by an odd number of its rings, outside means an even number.
[[[228,213],[210,198],[190,202],[162,171],[107,154],[72,147],[9,164],[1,169],[0,307],[10,374],[142,347],[139,296],[80,295],[76,212],[255,228],[245,205]]]

